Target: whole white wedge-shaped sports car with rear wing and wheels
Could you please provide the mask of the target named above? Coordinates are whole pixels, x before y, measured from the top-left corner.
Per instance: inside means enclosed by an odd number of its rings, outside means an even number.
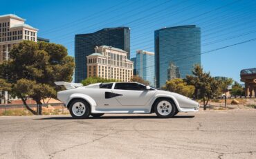
[[[57,98],[73,118],[100,117],[104,113],[156,113],[159,118],[172,118],[179,112],[199,111],[199,103],[188,97],[136,82],[55,84],[66,87]]]

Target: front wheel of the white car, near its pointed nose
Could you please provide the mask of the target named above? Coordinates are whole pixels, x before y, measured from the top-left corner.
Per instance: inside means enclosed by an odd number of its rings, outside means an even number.
[[[172,118],[176,113],[176,106],[169,98],[161,98],[154,103],[154,111],[158,118]]]

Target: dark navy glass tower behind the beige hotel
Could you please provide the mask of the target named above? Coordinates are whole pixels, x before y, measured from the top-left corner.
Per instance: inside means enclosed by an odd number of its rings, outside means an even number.
[[[75,82],[87,75],[86,56],[93,53],[95,46],[112,46],[127,52],[130,57],[130,29],[128,27],[104,28],[97,32],[75,35]]]

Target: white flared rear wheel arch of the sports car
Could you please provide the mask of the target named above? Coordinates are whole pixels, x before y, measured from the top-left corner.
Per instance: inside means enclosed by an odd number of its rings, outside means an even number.
[[[96,106],[95,100],[93,100],[93,98],[90,97],[89,95],[84,95],[84,94],[80,94],[80,93],[75,93],[75,94],[71,95],[71,97],[69,97],[68,103],[66,104],[67,109],[69,109],[70,104],[71,104],[74,100],[77,100],[77,99],[84,100],[85,102],[87,102],[87,103],[90,105],[91,110],[92,110],[93,108],[95,108],[95,106]]]

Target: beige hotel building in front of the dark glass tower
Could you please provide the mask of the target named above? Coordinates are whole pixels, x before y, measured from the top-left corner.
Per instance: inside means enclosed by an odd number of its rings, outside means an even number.
[[[87,77],[101,77],[130,82],[134,62],[127,59],[127,52],[111,46],[96,46],[95,53],[87,56]]]

